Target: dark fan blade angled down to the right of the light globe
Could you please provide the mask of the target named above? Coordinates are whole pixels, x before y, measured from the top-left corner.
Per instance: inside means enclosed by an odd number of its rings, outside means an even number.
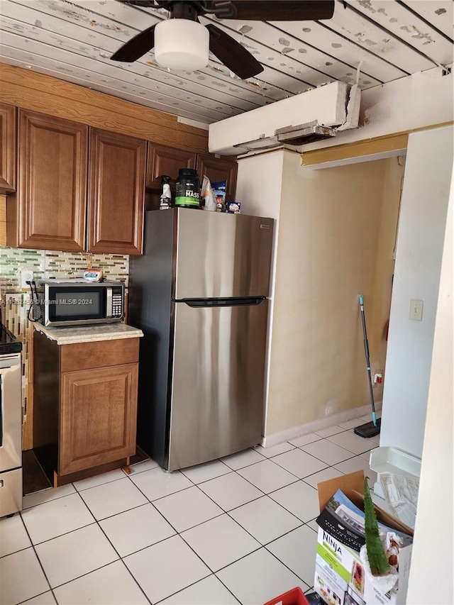
[[[211,24],[206,29],[210,34],[211,52],[239,78],[251,78],[263,71],[258,60],[230,35]]]

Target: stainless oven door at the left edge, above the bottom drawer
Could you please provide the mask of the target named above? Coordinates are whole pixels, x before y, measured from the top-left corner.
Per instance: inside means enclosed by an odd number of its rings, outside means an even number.
[[[0,473],[22,464],[21,355],[0,356]],[[0,477],[1,478],[1,477]]]

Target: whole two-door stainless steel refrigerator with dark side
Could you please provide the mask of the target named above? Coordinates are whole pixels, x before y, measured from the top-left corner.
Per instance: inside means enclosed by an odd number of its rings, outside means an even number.
[[[166,470],[260,443],[272,218],[145,213],[130,257],[128,323],[141,328],[138,445]]]

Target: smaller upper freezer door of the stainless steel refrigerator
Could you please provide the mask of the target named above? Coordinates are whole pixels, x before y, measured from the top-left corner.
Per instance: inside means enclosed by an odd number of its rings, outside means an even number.
[[[175,299],[268,296],[272,218],[177,213]]]

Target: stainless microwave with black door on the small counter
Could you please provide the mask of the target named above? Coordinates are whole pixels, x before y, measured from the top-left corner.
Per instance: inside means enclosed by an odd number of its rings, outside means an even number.
[[[122,321],[125,289],[121,282],[50,279],[40,282],[40,321],[44,326],[85,326]]]

